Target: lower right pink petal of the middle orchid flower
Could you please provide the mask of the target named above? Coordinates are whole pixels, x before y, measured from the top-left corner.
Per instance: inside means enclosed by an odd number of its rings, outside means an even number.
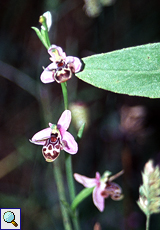
[[[63,149],[67,153],[76,154],[78,152],[77,142],[69,132],[66,131],[64,133],[62,142],[63,142]]]

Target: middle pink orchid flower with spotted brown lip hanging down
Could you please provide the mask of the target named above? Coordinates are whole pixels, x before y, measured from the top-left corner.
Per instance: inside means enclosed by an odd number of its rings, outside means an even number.
[[[36,133],[30,140],[36,145],[43,145],[42,154],[47,162],[54,161],[64,151],[76,154],[78,145],[74,137],[67,132],[71,122],[70,110],[65,110],[58,120],[57,125],[49,123],[49,128]]]

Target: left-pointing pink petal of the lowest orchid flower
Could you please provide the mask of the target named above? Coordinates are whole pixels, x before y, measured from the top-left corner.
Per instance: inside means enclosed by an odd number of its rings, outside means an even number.
[[[96,186],[96,179],[95,178],[89,178],[86,176],[82,176],[78,173],[74,173],[74,178],[76,181],[83,184],[84,187],[92,188],[92,187]]]

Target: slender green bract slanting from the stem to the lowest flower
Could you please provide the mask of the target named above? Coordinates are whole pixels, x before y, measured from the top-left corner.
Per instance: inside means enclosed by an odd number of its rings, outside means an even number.
[[[79,203],[81,203],[87,196],[89,196],[92,193],[93,189],[94,187],[84,188],[73,200],[71,204],[71,209],[74,210]]]

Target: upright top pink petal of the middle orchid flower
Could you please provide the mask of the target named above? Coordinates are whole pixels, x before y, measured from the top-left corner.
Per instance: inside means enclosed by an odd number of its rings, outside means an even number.
[[[57,122],[58,129],[63,128],[64,130],[67,130],[70,123],[71,123],[71,111],[65,110]]]

